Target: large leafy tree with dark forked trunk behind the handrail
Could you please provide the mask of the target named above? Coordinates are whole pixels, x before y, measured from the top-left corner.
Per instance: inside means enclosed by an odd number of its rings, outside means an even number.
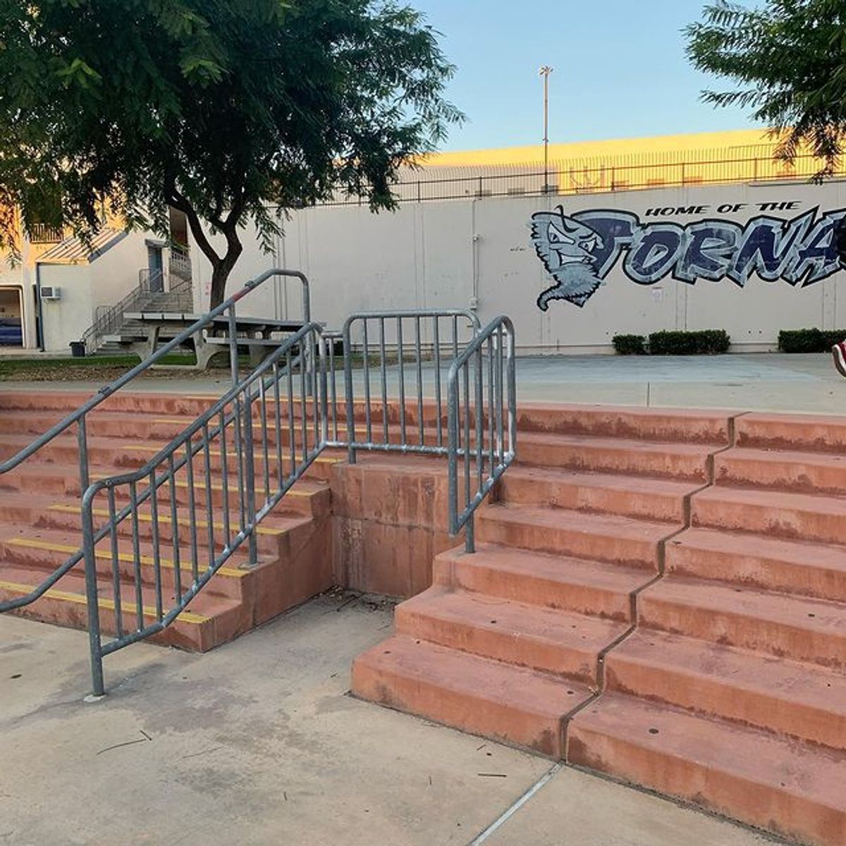
[[[390,0],[0,0],[0,201],[84,238],[105,207],[161,233],[184,211],[217,305],[244,223],[269,250],[336,192],[392,208],[398,168],[462,118],[452,73]]]

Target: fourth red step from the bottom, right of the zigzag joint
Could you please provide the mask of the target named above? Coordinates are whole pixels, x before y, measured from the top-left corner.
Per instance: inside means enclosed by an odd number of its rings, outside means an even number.
[[[796,596],[846,602],[846,548],[689,529],[667,543],[667,571]]]

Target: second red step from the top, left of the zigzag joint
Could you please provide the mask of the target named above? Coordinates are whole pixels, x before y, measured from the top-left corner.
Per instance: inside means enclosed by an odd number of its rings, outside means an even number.
[[[714,445],[520,432],[519,464],[705,482]],[[512,471],[509,471],[512,472]]]

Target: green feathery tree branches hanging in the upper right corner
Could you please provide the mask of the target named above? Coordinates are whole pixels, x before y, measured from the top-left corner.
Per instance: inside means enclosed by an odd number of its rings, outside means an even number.
[[[846,137],[846,2],[720,0],[703,16],[685,30],[690,61],[740,86],[703,99],[751,107],[777,137],[778,158],[792,162],[806,148],[823,162],[819,179],[834,173]]]

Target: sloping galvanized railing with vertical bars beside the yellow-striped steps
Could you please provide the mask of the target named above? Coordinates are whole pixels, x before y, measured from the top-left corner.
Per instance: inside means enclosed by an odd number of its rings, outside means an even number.
[[[244,543],[241,563],[257,563],[258,525],[327,443],[325,360],[321,327],[307,324],[140,470],[85,491],[94,695],[104,692],[104,656],[166,629]],[[321,376],[316,390],[311,363]],[[106,507],[97,509],[103,494]],[[118,510],[118,500],[128,504]],[[99,530],[96,515],[105,518]],[[106,643],[101,607],[113,615]]]

